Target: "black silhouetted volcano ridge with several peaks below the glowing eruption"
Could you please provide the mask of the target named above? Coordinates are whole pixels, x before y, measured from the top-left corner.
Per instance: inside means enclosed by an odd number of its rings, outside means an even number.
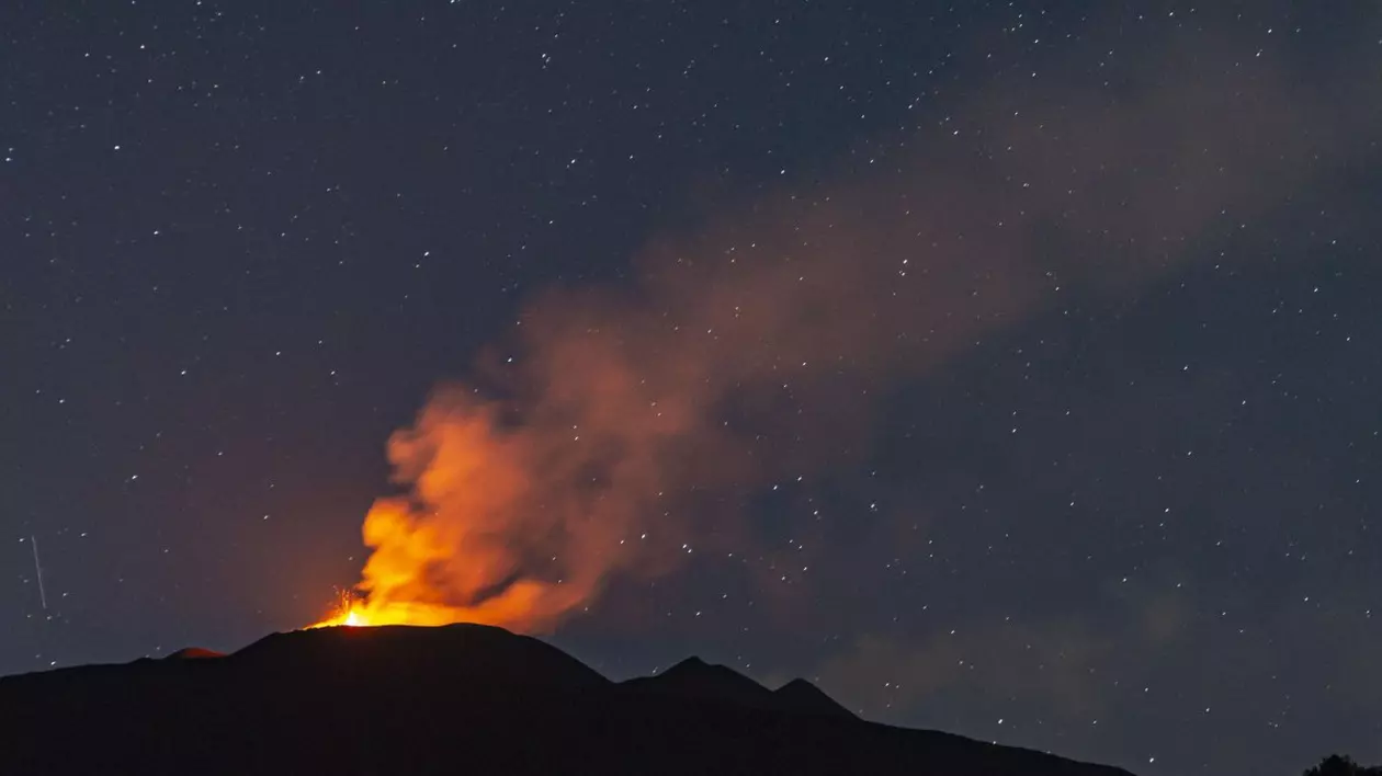
[[[615,683],[486,625],[274,634],[0,678],[3,773],[1129,776],[867,722],[697,659]]]

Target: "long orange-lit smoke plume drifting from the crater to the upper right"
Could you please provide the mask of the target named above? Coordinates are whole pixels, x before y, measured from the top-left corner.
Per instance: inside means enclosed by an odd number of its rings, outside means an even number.
[[[688,490],[842,465],[880,389],[1204,255],[1382,126],[1365,79],[1320,91],[1247,51],[1162,65],[1117,97],[1009,79],[825,184],[656,240],[629,286],[533,298],[496,349],[515,363],[482,359],[390,442],[405,493],[365,522],[369,608],[551,628],[709,525],[734,536],[737,515],[680,508]]]

